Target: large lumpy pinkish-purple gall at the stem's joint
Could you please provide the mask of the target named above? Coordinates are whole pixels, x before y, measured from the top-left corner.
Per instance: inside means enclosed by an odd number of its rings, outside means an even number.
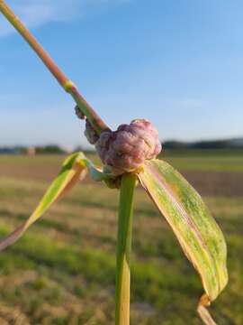
[[[162,148],[157,129],[145,119],[120,125],[114,132],[104,131],[95,146],[103,164],[115,175],[136,171],[146,160],[156,158]]]

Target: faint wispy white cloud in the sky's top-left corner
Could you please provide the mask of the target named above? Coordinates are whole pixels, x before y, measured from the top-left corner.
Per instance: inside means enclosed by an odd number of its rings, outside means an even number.
[[[88,10],[100,5],[114,5],[129,0],[9,0],[7,4],[14,9],[28,27],[40,27],[50,22],[68,22],[82,17]],[[0,36],[14,32],[4,16],[0,16]]]

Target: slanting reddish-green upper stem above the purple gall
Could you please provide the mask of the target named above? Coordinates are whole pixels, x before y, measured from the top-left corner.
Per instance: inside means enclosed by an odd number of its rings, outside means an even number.
[[[40,43],[34,38],[31,32],[23,25],[20,19],[14,14],[4,0],[0,0],[0,12],[14,26],[14,28],[23,36],[23,39],[29,43],[32,50],[40,57],[40,60],[46,65],[52,75],[58,80],[58,83],[64,88],[76,101],[77,107],[87,117],[94,130],[100,135],[103,130],[109,129],[103,122],[100,116],[96,114],[94,109],[85,101],[85,98],[78,92],[75,84],[67,79],[65,74],[58,68],[57,64],[49,57],[49,54],[44,51]]]

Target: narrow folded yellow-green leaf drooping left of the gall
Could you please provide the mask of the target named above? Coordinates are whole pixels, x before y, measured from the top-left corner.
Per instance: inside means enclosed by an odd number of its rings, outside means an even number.
[[[31,217],[0,242],[0,251],[13,244],[53,203],[60,199],[67,191],[71,190],[77,181],[85,177],[87,172],[86,162],[87,159],[84,153],[74,153],[67,157],[57,178],[51,183],[46,194],[40,200],[40,204],[31,214]]]

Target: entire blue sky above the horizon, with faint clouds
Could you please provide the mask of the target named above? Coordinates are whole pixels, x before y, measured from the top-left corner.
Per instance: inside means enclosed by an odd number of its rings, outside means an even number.
[[[112,128],[243,135],[239,0],[9,0]],[[86,144],[73,101],[0,16],[0,145]]]

